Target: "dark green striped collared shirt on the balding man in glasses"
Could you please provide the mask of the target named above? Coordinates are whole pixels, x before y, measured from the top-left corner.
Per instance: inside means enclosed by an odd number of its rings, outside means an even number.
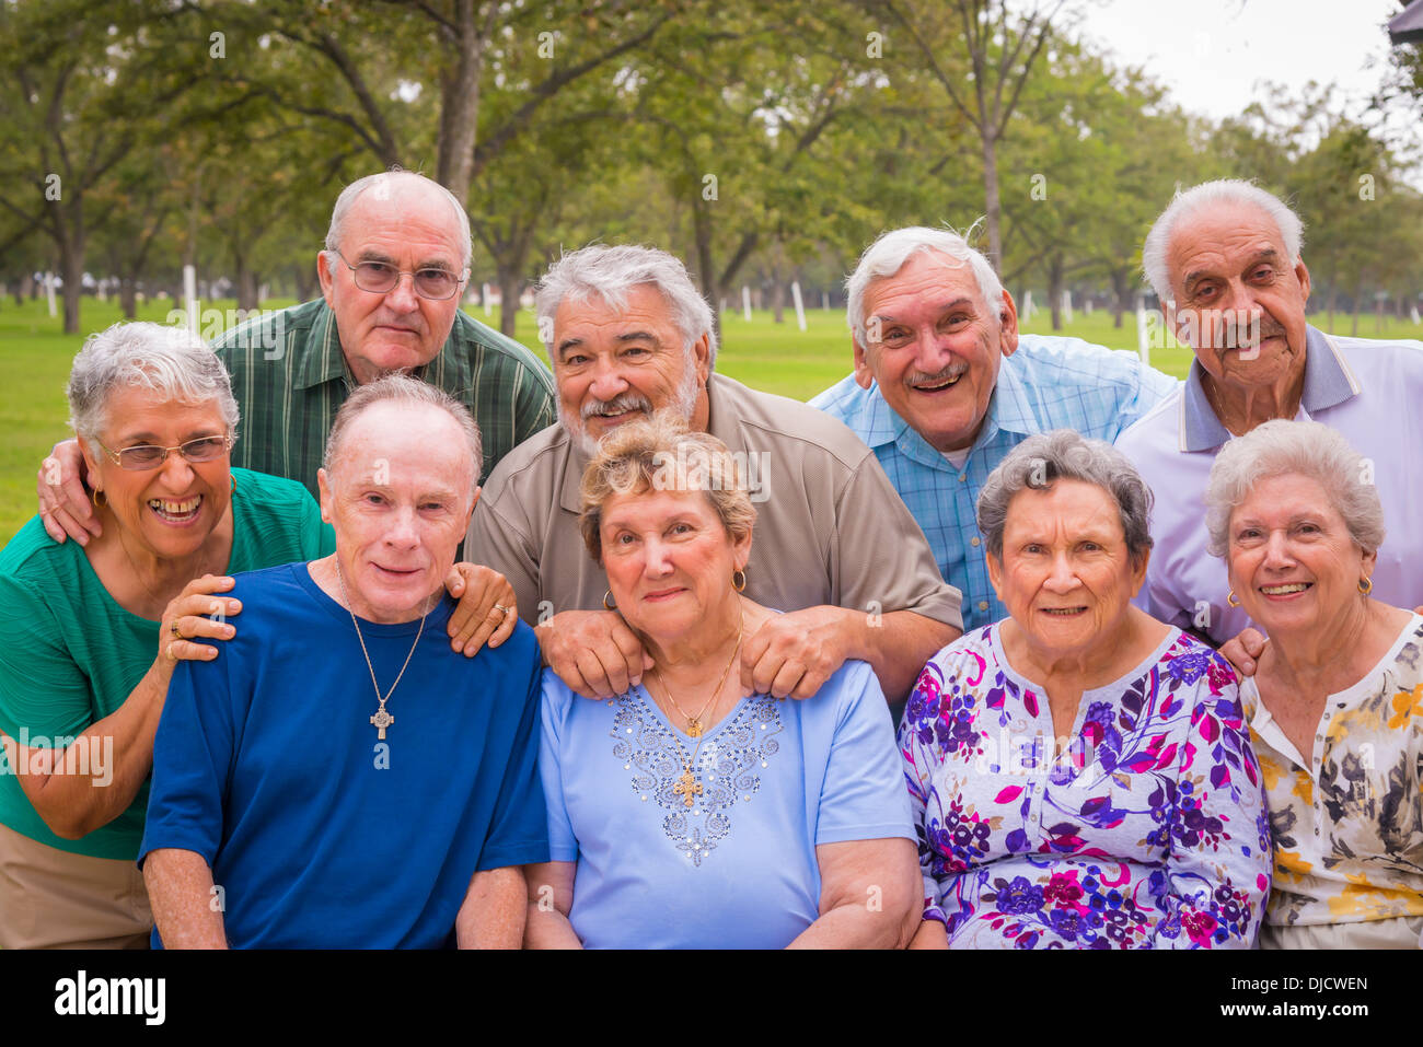
[[[342,353],[336,314],[323,299],[306,302],[225,331],[213,350],[232,376],[242,410],[232,464],[287,477],[317,495],[326,437],[357,386]],[[548,367],[464,310],[455,312],[440,354],[414,376],[474,413],[484,444],[481,478],[556,418]]]

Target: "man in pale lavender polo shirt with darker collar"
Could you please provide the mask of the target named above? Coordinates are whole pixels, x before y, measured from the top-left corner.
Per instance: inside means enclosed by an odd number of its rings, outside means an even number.
[[[1181,390],[1126,430],[1117,447],[1155,492],[1155,548],[1137,605],[1194,629],[1244,673],[1259,636],[1229,599],[1225,566],[1207,555],[1205,482],[1232,437],[1272,418],[1336,428],[1373,469],[1387,538],[1376,599],[1423,602],[1423,343],[1342,339],[1305,323],[1303,225],[1279,199],[1241,181],[1177,193],[1141,252],[1167,326],[1195,351]]]

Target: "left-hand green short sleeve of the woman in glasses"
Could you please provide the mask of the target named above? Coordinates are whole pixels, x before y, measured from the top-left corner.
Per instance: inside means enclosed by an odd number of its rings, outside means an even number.
[[[64,646],[65,630],[37,589],[0,575],[0,730],[30,745],[83,734],[94,723],[84,670]]]

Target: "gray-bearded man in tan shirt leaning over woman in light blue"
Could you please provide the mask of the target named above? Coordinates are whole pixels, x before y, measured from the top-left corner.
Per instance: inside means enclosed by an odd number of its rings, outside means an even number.
[[[902,700],[961,634],[961,595],[874,452],[805,404],[713,374],[712,310],[666,252],[565,255],[539,287],[538,316],[559,424],[491,474],[465,555],[509,579],[545,663],[588,697],[622,694],[649,667],[638,637],[603,609],[608,586],[579,533],[578,491],[602,435],[672,408],[744,462],[758,511],[746,592],[785,612],[743,644],[744,693],[807,697],[861,659],[889,700]]]

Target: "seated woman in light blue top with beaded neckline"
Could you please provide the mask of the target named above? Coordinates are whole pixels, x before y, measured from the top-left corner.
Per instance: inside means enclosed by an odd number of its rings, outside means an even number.
[[[756,511],[737,464],[667,417],[609,434],[583,538],[649,652],[610,701],[545,671],[554,861],[531,947],[895,947],[918,922],[914,829],[884,693],[847,661],[805,701],[743,696]]]

